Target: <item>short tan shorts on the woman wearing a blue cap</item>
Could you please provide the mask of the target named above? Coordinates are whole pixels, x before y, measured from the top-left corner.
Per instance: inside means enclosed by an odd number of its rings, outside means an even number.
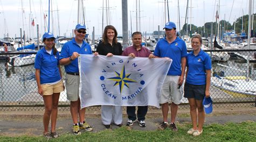
[[[64,91],[63,81],[60,80],[57,84],[43,84],[43,95],[52,95],[53,93],[60,93]]]

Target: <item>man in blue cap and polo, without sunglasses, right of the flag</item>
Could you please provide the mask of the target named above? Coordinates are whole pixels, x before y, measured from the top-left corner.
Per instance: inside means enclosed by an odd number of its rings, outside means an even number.
[[[172,64],[167,73],[162,87],[160,103],[162,104],[163,122],[158,127],[165,129],[168,126],[169,99],[171,99],[171,124],[170,128],[177,131],[175,117],[177,115],[178,104],[182,98],[182,84],[186,68],[186,44],[176,36],[176,25],[173,22],[165,24],[165,38],[156,44],[155,57],[169,57]]]

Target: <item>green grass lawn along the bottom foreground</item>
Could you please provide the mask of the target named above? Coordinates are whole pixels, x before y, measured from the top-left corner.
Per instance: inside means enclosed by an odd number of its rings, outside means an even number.
[[[203,134],[193,137],[187,134],[191,124],[179,123],[178,132],[172,132],[169,128],[163,131],[138,131],[130,130],[127,126],[119,129],[103,130],[100,132],[83,132],[80,136],[73,134],[61,134],[57,139],[47,140],[41,137],[5,137],[0,135],[0,141],[256,141],[256,122],[226,123],[205,125]]]

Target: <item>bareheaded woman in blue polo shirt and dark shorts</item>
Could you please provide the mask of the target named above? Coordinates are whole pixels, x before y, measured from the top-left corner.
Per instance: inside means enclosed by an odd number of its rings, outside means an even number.
[[[193,128],[188,133],[199,136],[203,132],[204,97],[210,97],[211,58],[202,49],[202,37],[197,34],[191,39],[191,51],[187,56],[184,97],[188,98]],[[198,114],[197,114],[198,110]],[[198,126],[197,126],[198,120]]]

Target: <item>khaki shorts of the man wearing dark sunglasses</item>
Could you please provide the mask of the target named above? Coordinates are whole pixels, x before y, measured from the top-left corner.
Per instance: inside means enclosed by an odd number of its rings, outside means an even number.
[[[79,83],[80,77],[66,74],[66,91],[67,100],[77,101],[79,99]]]

